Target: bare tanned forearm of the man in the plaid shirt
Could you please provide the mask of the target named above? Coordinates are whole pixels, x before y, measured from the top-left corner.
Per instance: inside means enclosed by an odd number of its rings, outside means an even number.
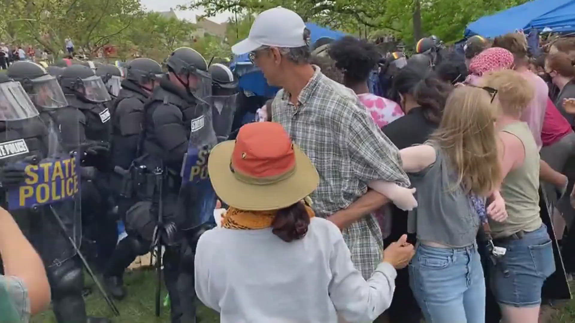
[[[340,230],[343,230],[388,202],[389,199],[384,195],[369,190],[346,209],[333,213],[327,220],[332,221]]]

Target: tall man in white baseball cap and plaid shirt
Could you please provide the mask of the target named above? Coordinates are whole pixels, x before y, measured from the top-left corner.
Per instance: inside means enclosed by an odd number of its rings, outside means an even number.
[[[297,13],[276,7],[260,13],[250,36],[232,51],[249,53],[267,82],[282,87],[271,103],[272,121],[312,160],[320,175],[310,195],[313,209],[342,229],[355,268],[369,279],[384,247],[371,213],[388,199],[368,192],[367,184],[384,180],[409,186],[409,179],[397,148],[355,93],[309,63],[309,36]],[[388,274],[395,278],[395,272]]]

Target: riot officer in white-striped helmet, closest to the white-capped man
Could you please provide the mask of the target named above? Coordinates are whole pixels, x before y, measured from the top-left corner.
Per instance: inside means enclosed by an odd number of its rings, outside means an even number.
[[[208,71],[212,76],[212,124],[218,143],[228,140],[232,130],[233,116],[236,113],[238,82],[229,67],[212,64]]]

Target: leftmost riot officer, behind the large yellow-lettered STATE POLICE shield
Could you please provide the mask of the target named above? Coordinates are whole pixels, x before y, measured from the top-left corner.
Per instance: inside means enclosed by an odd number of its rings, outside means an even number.
[[[39,110],[58,109],[66,105],[66,100],[56,80],[41,66],[24,61],[17,63],[11,66],[9,72],[25,85],[28,94],[20,83],[11,82],[5,75],[0,75],[0,145],[10,147],[2,149],[5,155],[2,157],[0,181],[2,190],[8,191],[8,194],[2,194],[7,197],[3,205],[17,219],[44,261],[56,320],[108,322],[103,318],[86,316],[82,297],[82,265],[70,242],[79,244],[81,240],[79,194],[76,194],[79,174],[74,166],[77,159],[59,145],[58,134],[53,133],[55,128],[46,126],[39,116]],[[5,91],[7,89],[9,92]],[[11,107],[15,103],[16,110]],[[49,118],[48,115],[45,117]],[[14,169],[17,165],[15,162],[20,163],[20,167]],[[34,178],[24,173],[24,167],[33,172],[39,168],[38,165],[56,176]],[[61,174],[57,174],[58,168]],[[66,172],[62,172],[63,168]],[[55,178],[58,180],[54,181]],[[60,178],[62,185],[59,186],[57,182]],[[37,182],[37,185],[28,185],[33,182]],[[64,182],[67,184],[64,185]],[[39,189],[41,186],[44,186],[44,190]],[[38,198],[42,191],[48,194],[45,198]]]

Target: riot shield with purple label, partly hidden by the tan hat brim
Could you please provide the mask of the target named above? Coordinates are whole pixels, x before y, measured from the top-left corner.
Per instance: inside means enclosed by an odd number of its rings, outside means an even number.
[[[182,164],[177,202],[178,228],[182,230],[213,222],[216,192],[208,176],[208,157],[216,144],[212,110],[206,106],[204,114],[191,121],[189,145]]]

